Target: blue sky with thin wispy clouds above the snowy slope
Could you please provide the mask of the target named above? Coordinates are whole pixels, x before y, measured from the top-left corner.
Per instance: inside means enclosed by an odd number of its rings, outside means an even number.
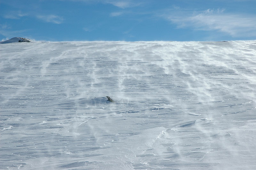
[[[0,41],[256,40],[255,0],[0,0]]]

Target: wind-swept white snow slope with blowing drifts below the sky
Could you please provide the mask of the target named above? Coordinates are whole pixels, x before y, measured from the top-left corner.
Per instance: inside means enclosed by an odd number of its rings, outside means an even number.
[[[0,58],[0,169],[256,167],[255,41],[9,43]]]

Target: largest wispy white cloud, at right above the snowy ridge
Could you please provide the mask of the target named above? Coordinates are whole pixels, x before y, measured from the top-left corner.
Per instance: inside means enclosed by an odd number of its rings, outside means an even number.
[[[181,13],[179,16],[166,16],[178,28],[190,27],[197,30],[217,30],[232,37],[255,36],[256,17],[224,13],[224,10],[206,10],[194,14]]]

